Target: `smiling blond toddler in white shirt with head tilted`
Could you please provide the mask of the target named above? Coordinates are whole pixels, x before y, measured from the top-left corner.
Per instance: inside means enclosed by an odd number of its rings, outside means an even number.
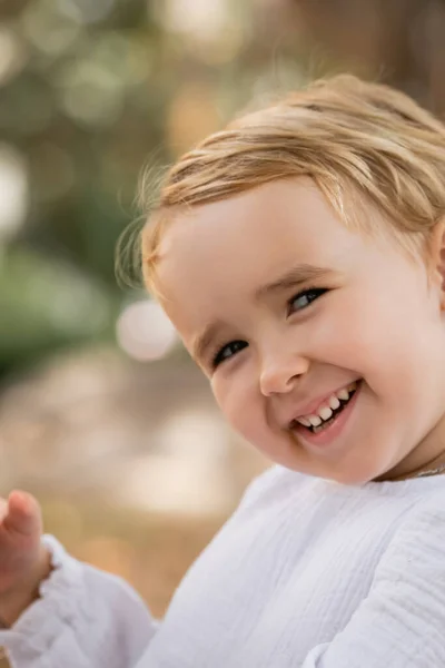
[[[350,76],[168,173],[142,271],[235,430],[275,465],[162,621],[4,501],[16,668],[445,666],[445,127]]]

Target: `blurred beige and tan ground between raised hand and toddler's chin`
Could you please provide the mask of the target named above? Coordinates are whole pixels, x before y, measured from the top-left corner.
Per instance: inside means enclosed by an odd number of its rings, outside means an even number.
[[[187,360],[112,348],[16,380],[0,400],[0,485],[43,505],[46,530],[121,574],[161,616],[185,570],[266,462],[226,426]]]

